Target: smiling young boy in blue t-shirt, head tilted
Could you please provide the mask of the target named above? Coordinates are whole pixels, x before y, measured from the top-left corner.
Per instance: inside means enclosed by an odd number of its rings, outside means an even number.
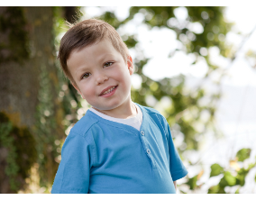
[[[176,193],[187,170],[166,119],[131,100],[133,59],[114,28],[96,19],[72,26],[59,59],[92,107],[64,142],[51,193]]]

